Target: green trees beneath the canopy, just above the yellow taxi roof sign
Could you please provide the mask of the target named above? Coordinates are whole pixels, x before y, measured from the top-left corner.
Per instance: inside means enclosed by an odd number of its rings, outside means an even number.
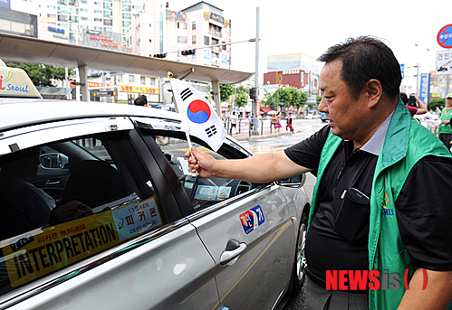
[[[35,86],[56,86],[58,80],[65,80],[66,74],[63,67],[45,66],[43,64],[21,62],[16,64],[14,62],[5,61],[6,66],[12,68],[20,68],[28,74],[30,80]],[[68,68],[68,75],[73,73],[72,68]]]

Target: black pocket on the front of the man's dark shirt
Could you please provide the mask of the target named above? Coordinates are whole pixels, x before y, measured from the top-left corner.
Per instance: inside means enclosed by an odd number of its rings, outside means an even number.
[[[334,221],[334,229],[348,241],[367,238],[369,233],[370,199],[360,190],[345,193]]]

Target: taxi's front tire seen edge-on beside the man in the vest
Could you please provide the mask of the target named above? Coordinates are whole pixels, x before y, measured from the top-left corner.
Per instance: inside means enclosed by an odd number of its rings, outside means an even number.
[[[302,291],[306,274],[304,272],[304,245],[308,228],[308,217],[303,212],[302,220],[298,228],[298,237],[295,244],[295,259],[292,269],[292,294],[298,295]]]

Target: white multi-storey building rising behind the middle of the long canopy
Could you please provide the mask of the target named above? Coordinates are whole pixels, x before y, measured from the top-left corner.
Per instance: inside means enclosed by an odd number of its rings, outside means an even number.
[[[148,0],[132,19],[126,44],[142,56],[166,54],[170,61],[229,68],[231,29],[223,10],[200,2],[178,10],[170,3]],[[225,45],[222,45],[225,44]],[[218,45],[218,46],[211,46]],[[182,51],[189,52],[182,55]]]

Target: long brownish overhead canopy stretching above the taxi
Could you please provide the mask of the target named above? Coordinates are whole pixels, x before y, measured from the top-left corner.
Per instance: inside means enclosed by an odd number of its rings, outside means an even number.
[[[32,62],[62,67],[83,67],[90,70],[116,71],[157,77],[167,77],[221,84],[236,84],[254,73],[217,69],[191,63],[168,61],[124,52],[113,52],[69,43],[44,41],[36,38],[0,33],[0,59]]]

